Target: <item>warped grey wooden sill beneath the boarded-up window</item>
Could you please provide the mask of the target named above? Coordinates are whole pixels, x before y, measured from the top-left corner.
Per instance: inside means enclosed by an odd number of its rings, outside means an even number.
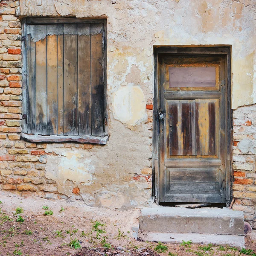
[[[76,141],[79,143],[107,144],[108,135],[104,137],[92,135],[37,135],[22,133],[21,137],[30,142],[67,142]]]

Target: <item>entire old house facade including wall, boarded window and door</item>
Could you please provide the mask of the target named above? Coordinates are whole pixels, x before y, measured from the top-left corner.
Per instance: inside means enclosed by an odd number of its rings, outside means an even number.
[[[2,0],[1,195],[256,228],[255,33],[254,0]]]

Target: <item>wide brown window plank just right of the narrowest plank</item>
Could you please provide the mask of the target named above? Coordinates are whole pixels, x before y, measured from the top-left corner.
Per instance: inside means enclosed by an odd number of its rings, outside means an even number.
[[[76,34],[77,25],[64,24],[64,134],[77,135],[77,35],[70,31]]]

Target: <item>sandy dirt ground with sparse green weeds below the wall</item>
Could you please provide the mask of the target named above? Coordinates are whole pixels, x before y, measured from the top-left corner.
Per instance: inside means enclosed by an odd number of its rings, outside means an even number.
[[[247,236],[241,252],[187,241],[159,244],[132,236],[140,209],[118,211],[42,198],[0,196],[0,201],[0,256],[256,256],[256,233]]]

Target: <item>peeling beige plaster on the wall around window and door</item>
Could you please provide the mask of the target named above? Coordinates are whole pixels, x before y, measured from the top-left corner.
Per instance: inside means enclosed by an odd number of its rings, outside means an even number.
[[[17,175],[28,175],[26,182],[25,178],[21,182],[29,185],[18,185],[21,192],[17,194],[25,195],[24,191],[30,190],[45,198],[58,195],[111,208],[151,203],[152,111],[146,105],[153,101],[153,46],[231,45],[232,107],[256,103],[255,0],[19,3],[15,9],[20,17],[107,18],[110,139],[104,146],[24,143],[23,148],[28,148],[24,154],[33,155],[20,157],[13,166],[22,171]],[[31,148],[42,155],[34,155]],[[22,162],[30,162],[27,172]],[[39,172],[40,180],[35,178]]]

